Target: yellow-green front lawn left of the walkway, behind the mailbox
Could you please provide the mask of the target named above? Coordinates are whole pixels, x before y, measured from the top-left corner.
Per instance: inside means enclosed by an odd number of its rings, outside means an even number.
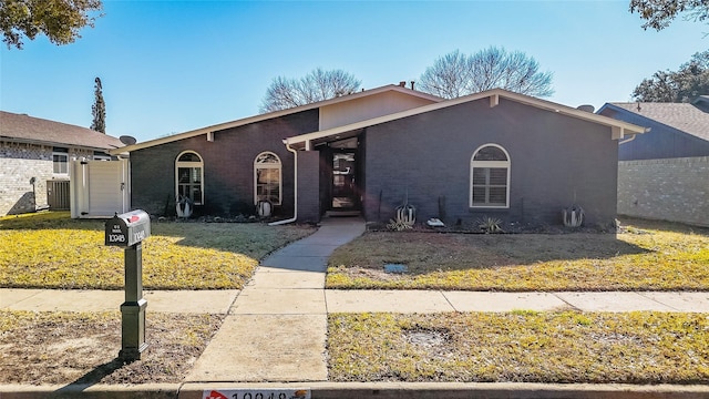
[[[258,262],[311,234],[306,226],[153,222],[143,243],[146,289],[240,289]],[[0,218],[0,287],[123,289],[123,248],[104,221],[50,212]]]

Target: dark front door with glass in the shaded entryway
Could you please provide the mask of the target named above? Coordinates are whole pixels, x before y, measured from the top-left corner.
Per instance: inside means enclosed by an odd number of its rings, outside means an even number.
[[[332,211],[359,209],[357,150],[332,152]]]

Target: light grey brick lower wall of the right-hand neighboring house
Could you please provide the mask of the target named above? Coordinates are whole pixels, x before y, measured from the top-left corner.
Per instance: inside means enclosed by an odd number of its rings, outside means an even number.
[[[709,156],[619,162],[618,214],[709,226]]]

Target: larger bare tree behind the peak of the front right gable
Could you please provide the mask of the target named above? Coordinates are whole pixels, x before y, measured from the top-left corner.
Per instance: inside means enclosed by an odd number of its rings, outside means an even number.
[[[444,99],[495,88],[535,96],[554,93],[552,73],[540,71],[534,58],[495,47],[472,55],[455,50],[439,58],[421,75],[419,88]]]

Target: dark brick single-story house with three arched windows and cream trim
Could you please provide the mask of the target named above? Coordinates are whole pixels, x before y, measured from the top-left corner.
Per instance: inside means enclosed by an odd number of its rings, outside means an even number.
[[[504,90],[443,100],[387,85],[124,149],[132,204],[174,214],[253,213],[317,222],[361,213],[387,222],[405,201],[418,221],[590,225],[616,217],[618,140],[644,130]]]

